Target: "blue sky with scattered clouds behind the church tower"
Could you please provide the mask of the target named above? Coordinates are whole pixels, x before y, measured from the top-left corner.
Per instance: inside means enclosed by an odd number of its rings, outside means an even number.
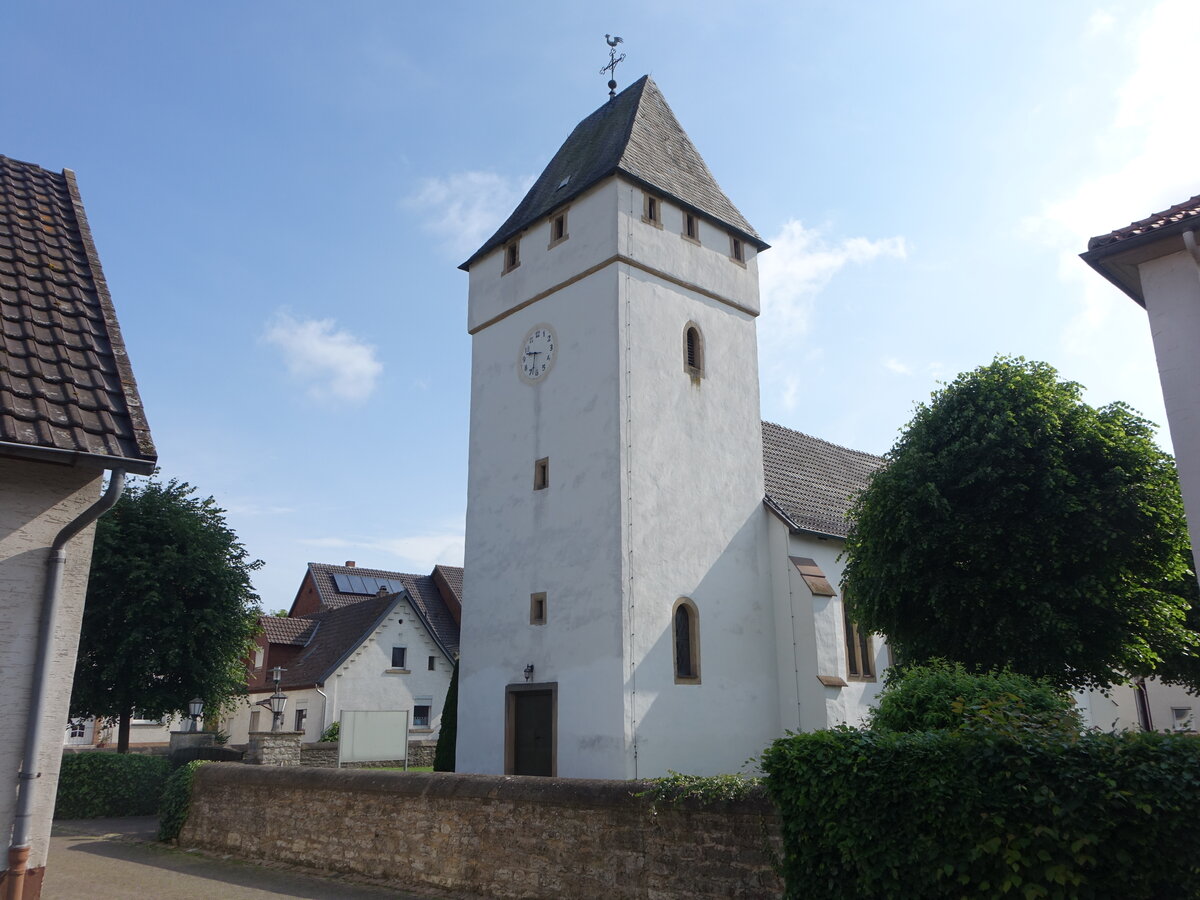
[[[602,8],[601,8],[602,7]],[[1200,193],[1194,0],[38,0],[0,154],[73,169],[163,478],[265,610],[308,562],[461,564],[457,269],[649,73],[760,258],[762,415],[882,454],[997,354],[1163,424],[1145,311],[1087,239]]]

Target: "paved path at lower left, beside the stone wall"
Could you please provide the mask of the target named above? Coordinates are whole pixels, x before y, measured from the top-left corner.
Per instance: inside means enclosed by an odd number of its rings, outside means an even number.
[[[89,900],[420,900],[391,888],[217,859],[155,842],[158,821],[55,822],[42,896]]]

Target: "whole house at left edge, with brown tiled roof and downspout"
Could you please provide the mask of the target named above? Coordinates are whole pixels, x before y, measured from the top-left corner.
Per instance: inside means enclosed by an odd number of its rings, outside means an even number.
[[[157,458],[74,174],[0,156],[0,890],[41,890],[95,520]],[[112,473],[103,497],[104,473]]]

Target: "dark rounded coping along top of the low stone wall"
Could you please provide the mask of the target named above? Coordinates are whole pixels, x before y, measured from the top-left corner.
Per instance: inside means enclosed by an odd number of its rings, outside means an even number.
[[[452,772],[380,772],[378,769],[332,769],[307,767],[244,766],[216,762],[202,766],[196,778],[206,786],[264,787],[266,790],[302,788],[305,791],[342,791],[353,793],[394,794],[426,799],[470,799],[493,803],[523,802],[546,806],[623,808],[650,806],[649,797],[638,797],[648,781],[610,781],[601,779],[539,778],[534,775],[468,775]],[[678,804],[662,803],[664,811],[678,805],[683,810],[724,814],[774,814],[762,787],[751,788],[738,800],[702,803],[686,799]]]

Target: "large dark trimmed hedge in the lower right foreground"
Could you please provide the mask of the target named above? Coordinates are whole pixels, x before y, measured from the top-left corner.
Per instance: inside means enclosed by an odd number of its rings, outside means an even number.
[[[790,898],[1200,898],[1200,739],[793,734],[762,758]]]

